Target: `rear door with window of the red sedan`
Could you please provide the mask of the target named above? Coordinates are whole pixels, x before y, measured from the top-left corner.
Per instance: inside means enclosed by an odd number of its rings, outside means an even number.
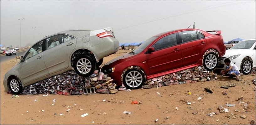
[[[179,32],[179,36],[183,66],[195,64],[202,59],[206,45],[204,34],[197,31],[182,31]]]

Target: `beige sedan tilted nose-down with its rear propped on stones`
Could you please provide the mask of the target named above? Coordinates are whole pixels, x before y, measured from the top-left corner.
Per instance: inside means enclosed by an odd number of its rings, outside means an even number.
[[[46,36],[31,46],[20,62],[4,75],[5,91],[19,94],[22,88],[72,68],[87,77],[103,58],[116,53],[119,42],[113,29],[67,30]]]

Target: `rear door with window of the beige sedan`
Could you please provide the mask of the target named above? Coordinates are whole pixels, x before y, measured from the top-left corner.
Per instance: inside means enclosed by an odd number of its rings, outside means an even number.
[[[49,74],[68,67],[70,64],[69,57],[75,46],[75,37],[66,34],[57,34],[46,38],[44,61]]]

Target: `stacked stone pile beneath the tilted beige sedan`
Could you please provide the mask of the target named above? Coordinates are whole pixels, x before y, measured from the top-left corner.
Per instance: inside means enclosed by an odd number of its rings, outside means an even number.
[[[74,70],[56,75],[23,88],[21,94],[115,94],[116,84],[104,73],[95,70],[89,77],[81,77]]]

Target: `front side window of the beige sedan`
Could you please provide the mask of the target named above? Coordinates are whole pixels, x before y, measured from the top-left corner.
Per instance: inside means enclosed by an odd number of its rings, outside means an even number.
[[[39,53],[42,53],[42,50],[43,50],[43,41],[37,42],[33,47],[29,49],[29,52],[26,53],[25,60]]]

